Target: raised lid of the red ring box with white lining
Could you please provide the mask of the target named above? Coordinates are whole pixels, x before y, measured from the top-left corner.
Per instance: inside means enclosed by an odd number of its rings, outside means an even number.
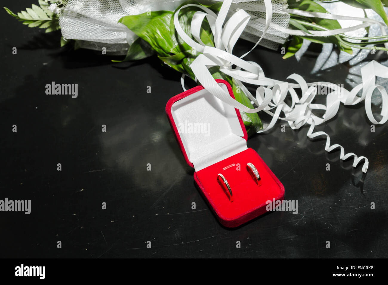
[[[217,83],[234,98],[227,81]],[[197,86],[172,97],[166,113],[186,162],[196,171],[247,149],[239,110]]]

